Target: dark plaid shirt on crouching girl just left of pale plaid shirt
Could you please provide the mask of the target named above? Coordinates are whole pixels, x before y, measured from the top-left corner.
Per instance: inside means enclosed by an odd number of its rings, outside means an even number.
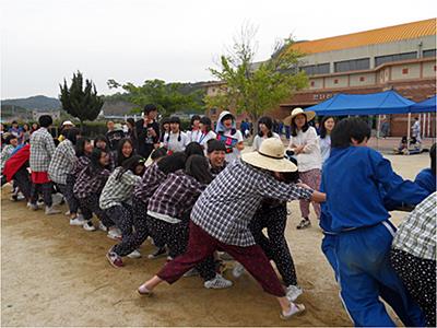
[[[92,195],[99,196],[103,187],[105,187],[105,184],[108,180],[109,175],[110,172],[106,168],[91,173],[83,168],[75,179],[73,188],[74,196],[78,199],[88,198]]]

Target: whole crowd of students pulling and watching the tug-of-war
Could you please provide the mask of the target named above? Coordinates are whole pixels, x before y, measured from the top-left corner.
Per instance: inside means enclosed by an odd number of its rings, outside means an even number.
[[[294,303],[303,290],[284,236],[286,202],[300,202],[299,230],[311,225],[312,203],[322,251],[354,324],[393,325],[380,296],[406,326],[435,326],[435,145],[430,167],[413,183],[366,147],[370,130],[356,118],[324,117],[319,137],[308,124],[315,114],[296,108],[285,149],[272,119],[262,117],[255,151],[241,154],[244,136],[229,112],[215,129],[208,117],[193,117],[188,132],[177,117],[160,126],[156,115],[146,105],[141,120],[128,120],[127,131],[109,124],[107,136],[94,140],[70,126],[58,147],[47,130],[51,117],[42,116],[27,141],[19,145],[19,136],[7,137],[2,185],[13,180],[28,208],[44,203],[46,214],[60,212],[51,197],[59,190],[71,225],[106,231],[118,242],[106,254],[116,268],[125,256],[140,257],[139,247],[151,238],[156,250],[147,257],[167,255],[168,261],[140,285],[142,295],[192,274],[206,289],[229,288],[233,282],[217,273],[227,254],[237,262],[234,276],[246,269],[276,297],[283,319],[305,311]],[[389,211],[406,206],[416,208],[392,243]]]

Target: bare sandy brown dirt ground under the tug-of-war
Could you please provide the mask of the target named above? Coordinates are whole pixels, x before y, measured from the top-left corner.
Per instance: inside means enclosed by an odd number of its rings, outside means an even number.
[[[387,156],[404,178],[429,165],[428,154]],[[322,234],[314,224],[296,231],[298,203],[286,236],[307,312],[291,321],[279,318],[275,300],[247,274],[227,290],[206,290],[198,277],[162,284],[153,297],[135,290],[165,259],[125,260],[115,269],[105,254],[114,244],[104,232],[70,226],[63,214],[46,216],[1,195],[1,325],[2,326],[350,326],[338,296],[333,273],[321,250]],[[62,207],[63,212],[67,210]],[[393,212],[399,223],[404,213]],[[315,223],[315,222],[314,222]],[[146,242],[143,255],[153,246]],[[398,324],[400,324],[398,321]]]

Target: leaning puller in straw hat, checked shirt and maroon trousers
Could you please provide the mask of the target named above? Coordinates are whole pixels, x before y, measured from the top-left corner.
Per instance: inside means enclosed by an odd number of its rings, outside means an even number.
[[[284,159],[284,147],[275,138],[265,140],[258,152],[243,154],[241,160],[229,164],[202,192],[192,209],[186,253],[167,262],[138,292],[150,295],[163,281],[176,282],[221,248],[239,261],[267,293],[276,297],[282,308],[281,318],[288,319],[302,313],[305,306],[286,297],[285,288],[248,229],[267,197],[324,201],[321,192],[282,181],[282,173],[294,171],[296,166]]]

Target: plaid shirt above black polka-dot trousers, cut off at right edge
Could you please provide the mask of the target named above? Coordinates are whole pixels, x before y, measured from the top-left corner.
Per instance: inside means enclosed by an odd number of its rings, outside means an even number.
[[[393,248],[436,260],[436,192],[429,195],[406,216],[393,238]]]

